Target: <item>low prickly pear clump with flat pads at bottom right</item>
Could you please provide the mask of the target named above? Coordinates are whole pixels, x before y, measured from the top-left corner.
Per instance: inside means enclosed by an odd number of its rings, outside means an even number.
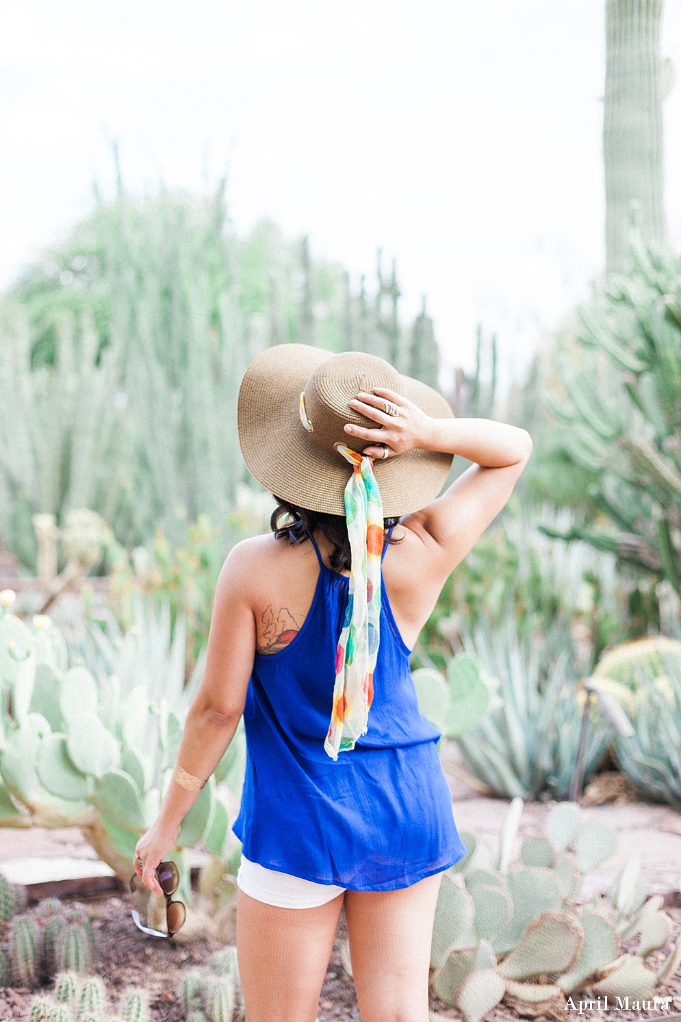
[[[584,987],[650,997],[681,962],[679,941],[656,973],[646,964],[672,932],[662,897],[645,901],[632,861],[606,897],[576,900],[582,877],[613,853],[616,841],[601,825],[580,824],[572,803],[551,810],[545,837],[525,838],[524,865],[508,870],[521,811],[522,802],[515,800],[496,855],[483,841],[463,835],[469,853],[442,878],[431,948],[436,994],[467,1022],[480,1020],[502,998],[521,1016],[534,1016],[537,1006],[557,1011],[566,994]],[[579,864],[579,882],[570,888],[560,870],[568,855]],[[537,856],[544,865],[525,865]],[[499,870],[483,865],[495,858]],[[636,936],[635,955],[620,957],[622,940]],[[643,990],[649,992],[637,992]]]

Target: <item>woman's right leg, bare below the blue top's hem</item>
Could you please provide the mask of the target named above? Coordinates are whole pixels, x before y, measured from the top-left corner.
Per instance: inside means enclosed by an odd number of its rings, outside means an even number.
[[[428,1022],[428,970],[441,874],[397,891],[346,891],[362,1022]]]

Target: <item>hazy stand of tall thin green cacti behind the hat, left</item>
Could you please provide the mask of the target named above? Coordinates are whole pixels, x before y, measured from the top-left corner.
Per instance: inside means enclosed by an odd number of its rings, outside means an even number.
[[[368,351],[437,382],[425,308],[398,317],[393,267],[378,293],[269,223],[231,230],[223,188],[100,202],[0,308],[0,526],[29,560],[31,515],[88,507],[128,547],[158,524],[174,546],[205,514],[231,543],[247,479],[238,385],[262,349]],[[29,563],[33,567],[33,563]]]

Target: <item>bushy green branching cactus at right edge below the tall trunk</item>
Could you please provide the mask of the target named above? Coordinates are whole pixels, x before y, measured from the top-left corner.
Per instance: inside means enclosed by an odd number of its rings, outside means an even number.
[[[634,251],[626,277],[580,313],[579,363],[564,357],[567,401],[548,399],[563,446],[594,473],[601,526],[545,527],[584,540],[681,590],[681,262]]]

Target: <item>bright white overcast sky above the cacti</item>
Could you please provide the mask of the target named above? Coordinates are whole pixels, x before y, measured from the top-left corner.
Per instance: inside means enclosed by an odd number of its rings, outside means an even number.
[[[664,52],[681,60],[681,0]],[[0,284],[110,192],[212,187],[373,274],[397,258],[449,365],[505,361],[603,264],[603,0],[0,0]],[[681,240],[681,85],[666,104]]]

